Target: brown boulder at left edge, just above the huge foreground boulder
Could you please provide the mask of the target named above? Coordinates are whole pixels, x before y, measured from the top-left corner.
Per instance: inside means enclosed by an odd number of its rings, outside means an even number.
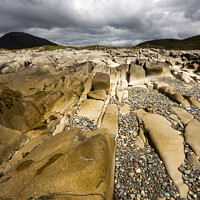
[[[0,164],[19,149],[22,133],[0,125]]]

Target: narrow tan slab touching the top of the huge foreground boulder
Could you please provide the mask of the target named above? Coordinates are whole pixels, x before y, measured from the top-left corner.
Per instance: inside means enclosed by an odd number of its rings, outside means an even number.
[[[118,108],[116,104],[107,106],[101,128],[107,128],[112,134],[118,135]]]

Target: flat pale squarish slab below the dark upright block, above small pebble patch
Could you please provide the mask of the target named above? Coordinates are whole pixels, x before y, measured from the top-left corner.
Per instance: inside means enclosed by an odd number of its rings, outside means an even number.
[[[78,116],[87,117],[88,119],[93,120],[95,124],[97,124],[103,105],[103,101],[86,99],[81,105],[81,109],[78,113]]]

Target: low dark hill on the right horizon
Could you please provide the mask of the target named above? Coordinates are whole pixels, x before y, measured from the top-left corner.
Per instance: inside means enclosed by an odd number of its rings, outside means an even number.
[[[174,50],[199,50],[200,35],[190,37],[184,40],[177,40],[177,39],[151,40],[142,42],[138,44],[136,47],[174,49]]]

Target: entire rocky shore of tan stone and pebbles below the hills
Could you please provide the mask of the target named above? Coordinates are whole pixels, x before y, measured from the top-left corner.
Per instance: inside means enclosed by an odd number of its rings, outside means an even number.
[[[200,51],[0,51],[0,199],[200,199]]]

